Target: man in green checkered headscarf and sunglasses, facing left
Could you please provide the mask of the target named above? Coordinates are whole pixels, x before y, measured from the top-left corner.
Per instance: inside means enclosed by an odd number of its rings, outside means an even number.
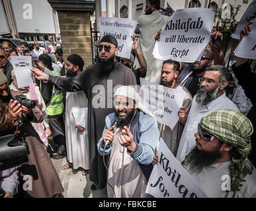
[[[196,146],[181,163],[206,195],[214,198],[256,197],[256,171],[248,155],[251,121],[243,114],[220,109],[202,117]]]

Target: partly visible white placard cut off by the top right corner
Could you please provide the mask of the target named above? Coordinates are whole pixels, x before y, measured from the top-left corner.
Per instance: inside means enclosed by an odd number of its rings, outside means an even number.
[[[234,39],[240,40],[240,32],[247,24],[254,20],[256,17],[256,0],[253,0],[251,4],[247,7],[245,13],[243,13],[243,16],[239,20],[235,33],[233,33],[231,36]]]

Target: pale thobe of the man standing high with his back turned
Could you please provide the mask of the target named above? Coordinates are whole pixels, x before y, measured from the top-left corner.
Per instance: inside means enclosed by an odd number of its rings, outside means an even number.
[[[140,32],[138,41],[138,49],[142,52],[147,62],[146,80],[159,84],[161,76],[161,67],[163,60],[153,57],[153,48],[155,46],[155,35],[165,26],[169,16],[161,15],[159,11],[153,11],[151,15],[141,15],[138,18],[136,31]],[[134,61],[134,69],[138,69],[140,64],[136,57]]]

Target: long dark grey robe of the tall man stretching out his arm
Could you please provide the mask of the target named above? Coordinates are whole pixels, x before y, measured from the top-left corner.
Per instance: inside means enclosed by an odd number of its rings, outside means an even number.
[[[103,164],[103,156],[97,152],[97,142],[105,127],[105,117],[113,112],[112,96],[116,90],[113,88],[116,85],[136,85],[136,77],[128,67],[116,62],[108,76],[103,75],[98,65],[90,65],[75,77],[49,75],[49,80],[67,92],[83,90],[88,98],[89,178],[91,181],[98,181],[102,189],[107,183],[107,170]]]

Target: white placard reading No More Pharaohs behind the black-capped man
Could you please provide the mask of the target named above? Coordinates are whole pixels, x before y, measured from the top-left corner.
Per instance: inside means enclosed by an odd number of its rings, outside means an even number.
[[[132,51],[132,38],[137,25],[137,21],[128,18],[98,18],[101,38],[110,34],[118,42],[118,57],[130,59]]]

